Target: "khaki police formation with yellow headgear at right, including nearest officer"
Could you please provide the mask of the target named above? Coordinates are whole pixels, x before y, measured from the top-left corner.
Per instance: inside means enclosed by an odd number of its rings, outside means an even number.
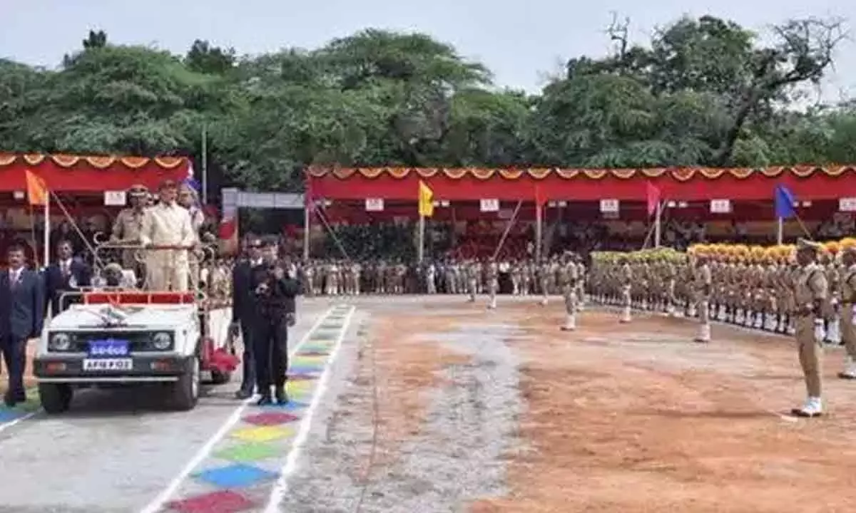
[[[793,335],[808,392],[798,416],[823,412],[823,342],[845,345],[839,377],[856,380],[856,239],[595,253],[589,292],[620,305],[621,321],[633,308],[698,317],[698,342],[710,342],[711,320]]]

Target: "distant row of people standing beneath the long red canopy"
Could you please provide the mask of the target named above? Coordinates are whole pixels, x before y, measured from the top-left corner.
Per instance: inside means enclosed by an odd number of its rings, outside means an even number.
[[[586,266],[574,261],[585,282]],[[362,294],[489,294],[493,280],[508,276],[508,292],[519,296],[562,294],[565,269],[563,257],[538,264],[534,260],[496,262],[443,260],[423,265],[403,262],[352,262],[312,260],[298,269],[303,287],[311,295]],[[498,284],[497,284],[498,286]]]

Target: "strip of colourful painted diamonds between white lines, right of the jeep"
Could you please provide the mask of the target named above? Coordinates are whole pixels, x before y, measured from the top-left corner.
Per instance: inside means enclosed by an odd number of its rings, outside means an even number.
[[[304,415],[318,392],[318,380],[330,365],[330,351],[348,330],[353,312],[353,307],[339,305],[324,317],[290,358],[288,404],[247,408],[164,511],[238,513],[265,508],[294,449],[294,436],[307,420]]]

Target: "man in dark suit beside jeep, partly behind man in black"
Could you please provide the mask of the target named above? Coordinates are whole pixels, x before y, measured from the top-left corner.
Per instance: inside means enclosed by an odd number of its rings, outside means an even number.
[[[244,344],[242,357],[243,378],[241,388],[235,394],[239,399],[253,397],[256,386],[256,363],[253,358],[253,331],[259,312],[256,304],[256,295],[253,292],[251,281],[253,268],[262,263],[262,241],[258,238],[247,239],[244,248],[245,254],[241,261],[232,269],[232,335],[241,332]]]

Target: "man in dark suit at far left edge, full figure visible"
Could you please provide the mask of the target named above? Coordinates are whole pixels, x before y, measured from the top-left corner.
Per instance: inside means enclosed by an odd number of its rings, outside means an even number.
[[[42,333],[45,290],[39,274],[24,267],[24,249],[20,245],[9,247],[7,258],[9,269],[0,273],[0,350],[9,373],[9,389],[3,402],[11,407],[27,400],[27,340]]]

